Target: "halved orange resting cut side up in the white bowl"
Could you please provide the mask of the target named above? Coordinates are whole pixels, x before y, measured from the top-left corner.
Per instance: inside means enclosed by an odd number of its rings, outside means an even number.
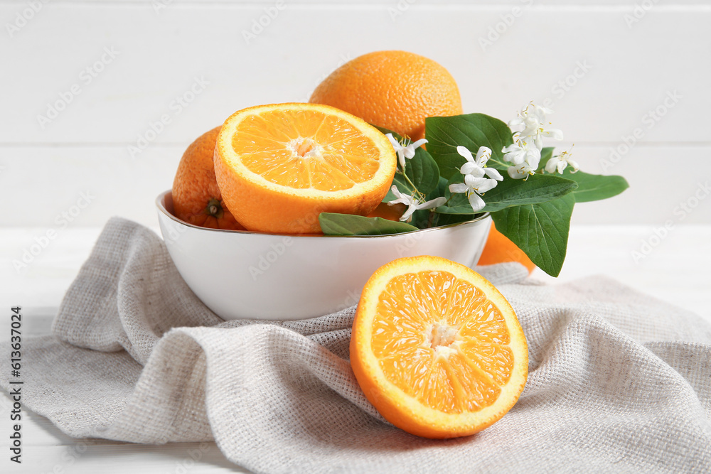
[[[271,104],[232,114],[215,146],[215,176],[248,230],[321,233],[319,213],[368,215],[387,194],[396,157],[387,137],[320,104]]]

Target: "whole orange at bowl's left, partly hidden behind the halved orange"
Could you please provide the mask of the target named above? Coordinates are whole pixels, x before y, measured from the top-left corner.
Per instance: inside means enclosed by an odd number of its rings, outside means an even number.
[[[220,126],[188,146],[173,180],[173,212],[188,224],[210,229],[245,230],[225,206],[215,179],[213,153]],[[210,203],[218,212],[210,212]]]

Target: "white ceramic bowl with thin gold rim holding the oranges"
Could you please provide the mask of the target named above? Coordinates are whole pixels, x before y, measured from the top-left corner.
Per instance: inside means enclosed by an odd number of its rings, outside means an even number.
[[[383,236],[296,236],[190,225],[173,215],[166,191],[156,199],[161,232],[178,271],[223,319],[303,319],[358,303],[380,266],[434,255],[473,266],[491,217]]]

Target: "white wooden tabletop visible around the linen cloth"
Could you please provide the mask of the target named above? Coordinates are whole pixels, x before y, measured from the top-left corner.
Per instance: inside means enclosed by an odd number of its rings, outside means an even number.
[[[0,229],[0,308],[23,308],[23,336],[48,334],[64,291],[89,254],[99,228],[67,229],[38,252],[26,269],[15,259],[42,235],[38,228]],[[711,322],[711,226],[676,225],[663,238],[655,227],[572,227],[559,281],[604,274],[650,295],[694,311]],[[657,237],[653,237],[653,236]],[[643,247],[643,242],[648,247]],[[639,252],[643,257],[634,257]],[[646,254],[645,254],[646,252]],[[537,270],[535,277],[555,284]],[[9,317],[0,340],[9,338]],[[8,357],[3,354],[1,357]],[[65,436],[43,416],[23,412],[21,465],[9,461],[9,397],[0,396],[1,473],[220,473],[247,472],[230,463],[214,443],[143,446]],[[194,461],[190,453],[201,451]]]

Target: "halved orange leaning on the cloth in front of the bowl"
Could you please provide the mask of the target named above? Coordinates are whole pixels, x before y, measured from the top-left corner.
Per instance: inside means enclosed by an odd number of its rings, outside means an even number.
[[[365,284],[351,367],[387,421],[451,438],[511,409],[528,377],[528,346],[513,308],[483,276],[439,257],[405,257]]]

